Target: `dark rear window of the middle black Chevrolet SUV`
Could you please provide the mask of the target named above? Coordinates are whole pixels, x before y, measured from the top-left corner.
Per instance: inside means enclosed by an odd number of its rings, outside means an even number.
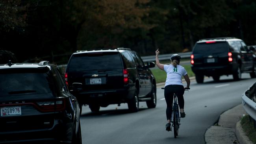
[[[75,54],[69,63],[69,72],[122,68],[119,52]]]

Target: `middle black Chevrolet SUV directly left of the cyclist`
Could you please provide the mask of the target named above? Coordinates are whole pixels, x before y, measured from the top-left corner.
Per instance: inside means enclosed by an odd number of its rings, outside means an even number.
[[[139,102],[148,108],[156,107],[156,80],[141,57],[129,48],[78,51],[71,55],[65,80],[70,92],[92,112],[109,104],[128,103],[132,112],[139,110]]]

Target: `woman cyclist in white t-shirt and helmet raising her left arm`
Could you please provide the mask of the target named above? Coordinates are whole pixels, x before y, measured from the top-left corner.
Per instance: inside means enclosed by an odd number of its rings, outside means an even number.
[[[171,116],[172,116],[172,105],[173,105],[173,94],[175,93],[178,98],[179,106],[180,106],[180,117],[184,118],[186,116],[184,112],[184,90],[189,89],[190,79],[187,75],[187,71],[183,66],[180,65],[180,55],[173,54],[171,55],[171,64],[172,65],[163,65],[159,62],[158,55],[160,51],[156,50],[156,65],[161,70],[164,70],[167,73],[167,78],[165,81],[165,101],[167,104],[166,108],[166,117],[167,124],[166,130],[171,130]],[[187,82],[187,86],[184,87],[182,84],[182,76]]]

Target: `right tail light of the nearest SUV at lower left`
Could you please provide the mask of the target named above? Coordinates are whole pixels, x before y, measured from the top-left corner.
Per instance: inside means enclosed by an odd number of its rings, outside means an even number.
[[[54,112],[62,111],[65,109],[65,99],[50,100],[43,102],[36,102],[40,111],[42,112]],[[56,105],[55,105],[56,104]]]

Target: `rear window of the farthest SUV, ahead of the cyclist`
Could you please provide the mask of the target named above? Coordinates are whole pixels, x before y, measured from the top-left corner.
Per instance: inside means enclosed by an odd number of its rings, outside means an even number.
[[[219,54],[224,52],[228,53],[227,42],[197,43],[193,50],[193,54]]]

